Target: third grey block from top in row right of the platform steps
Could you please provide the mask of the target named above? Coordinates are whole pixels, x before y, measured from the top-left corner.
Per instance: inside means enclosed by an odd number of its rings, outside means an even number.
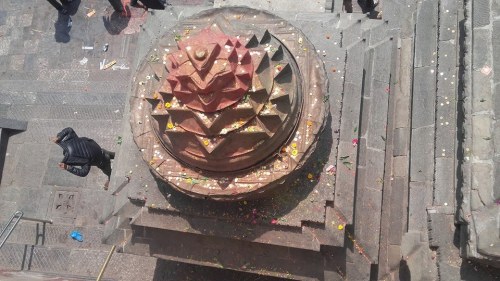
[[[410,180],[432,181],[434,178],[434,127],[412,130],[410,149]]]

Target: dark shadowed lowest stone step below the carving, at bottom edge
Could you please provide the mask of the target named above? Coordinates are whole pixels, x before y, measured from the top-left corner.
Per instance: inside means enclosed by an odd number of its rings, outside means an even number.
[[[323,256],[315,251],[163,229],[143,233],[132,242],[144,243],[156,258],[295,280],[322,280],[324,274]]]

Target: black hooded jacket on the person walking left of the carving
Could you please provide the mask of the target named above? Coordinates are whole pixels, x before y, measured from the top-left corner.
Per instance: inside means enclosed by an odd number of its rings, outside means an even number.
[[[80,177],[85,177],[90,166],[97,166],[104,160],[101,147],[92,139],[80,138],[72,128],[66,128],[57,134],[59,146],[63,149],[62,163],[66,170]],[[74,166],[80,166],[76,168]]]

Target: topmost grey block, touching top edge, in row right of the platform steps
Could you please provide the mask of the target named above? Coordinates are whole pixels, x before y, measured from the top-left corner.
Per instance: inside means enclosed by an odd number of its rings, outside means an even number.
[[[436,65],[438,1],[422,1],[417,7],[415,67]]]

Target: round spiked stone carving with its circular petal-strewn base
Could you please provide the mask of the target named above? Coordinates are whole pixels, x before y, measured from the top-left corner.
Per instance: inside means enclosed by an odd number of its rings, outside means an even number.
[[[131,126],[157,177],[192,196],[241,200],[304,163],[326,97],[323,63],[302,32],[266,12],[212,9],[147,55]]]

